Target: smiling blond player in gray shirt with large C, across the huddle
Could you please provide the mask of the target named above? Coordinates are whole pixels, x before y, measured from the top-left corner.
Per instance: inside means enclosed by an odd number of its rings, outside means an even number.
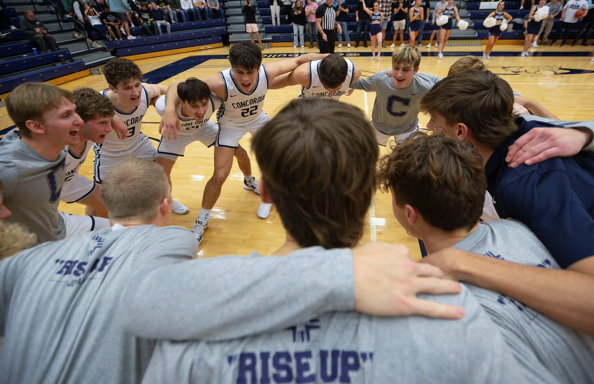
[[[412,45],[402,45],[392,53],[391,77],[379,71],[368,78],[359,78],[353,89],[375,92],[371,125],[377,143],[386,146],[391,136],[404,140],[419,127],[418,100],[429,92],[440,77],[419,73],[421,52]]]

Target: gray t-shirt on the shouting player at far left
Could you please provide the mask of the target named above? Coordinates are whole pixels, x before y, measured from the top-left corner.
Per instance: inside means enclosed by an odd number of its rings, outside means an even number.
[[[16,130],[0,141],[0,181],[4,205],[11,210],[7,222],[26,226],[39,243],[66,237],[58,215],[65,178],[66,150],[48,160],[23,142]]]

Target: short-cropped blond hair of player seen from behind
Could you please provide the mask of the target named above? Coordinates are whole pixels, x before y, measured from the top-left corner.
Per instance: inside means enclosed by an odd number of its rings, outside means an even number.
[[[101,185],[109,219],[138,219],[149,224],[163,199],[171,199],[163,167],[145,159],[129,159],[114,166]]]

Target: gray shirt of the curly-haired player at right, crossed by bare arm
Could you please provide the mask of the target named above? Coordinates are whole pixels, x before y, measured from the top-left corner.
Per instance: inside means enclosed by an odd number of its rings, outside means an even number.
[[[455,248],[523,265],[560,269],[545,246],[520,222],[479,225]],[[560,383],[594,383],[594,339],[560,325],[517,300],[468,284],[501,328],[514,356],[536,377],[550,372]],[[546,377],[539,377],[544,383]]]

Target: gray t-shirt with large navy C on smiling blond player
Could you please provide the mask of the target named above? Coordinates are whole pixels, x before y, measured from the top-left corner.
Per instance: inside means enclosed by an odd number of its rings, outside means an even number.
[[[368,78],[359,78],[351,87],[375,92],[371,125],[393,136],[410,132],[419,125],[419,100],[440,80],[441,77],[419,72],[410,86],[399,89],[386,71],[379,71]]]

